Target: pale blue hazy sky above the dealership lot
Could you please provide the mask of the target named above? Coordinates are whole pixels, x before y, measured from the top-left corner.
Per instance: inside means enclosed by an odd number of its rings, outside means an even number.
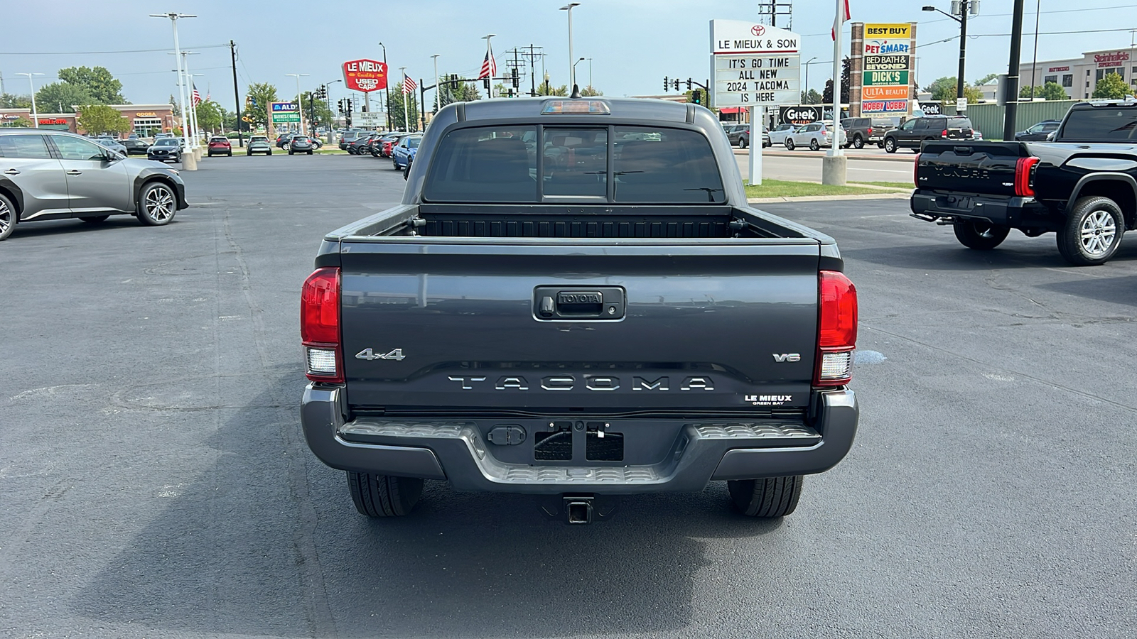
[[[707,76],[707,22],[711,18],[755,19],[757,1],[724,0],[581,0],[573,9],[574,53],[592,58],[592,83],[611,96],[658,93],[664,75]],[[1027,0],[1023,58],[1034,52],[1035,6]],[[355,0],[323,2],[276,0],[239,2],[199,0],[52,0],[49,5],[23,5],[0,17],[5,38],[0,40],[0,73],[8,92],[26,93],[27,80],[20,72],[40,72],[36,85],[53,81],[59,68],[101,65],[124,85],[135,103],[165,102],[175,92],[173,56],[163,51],[96,53],[136,49],[172,49],[169,20],[147,17],[151,13],[197,14],[181,20],[183,49],[191,56],[198,89],[208,89],[214,99],[232,108],[233,88],[229,70],[229,48],[207,48],[234,40],[240,50],[238,80],[272,82],[282,93],[296,91],[288,73],[307,73],[302,89],[341,77],[340,64],[357,58],[382,59],[377,42],[387,45],[392,73],[407,66],[415,78],[433,74],[430,56],[438,53],[441,72],[474,74],[481,65],[484,41],[493,33],[499,69],[506,66],[505,51],[530,43],[543,47],[545,67],[554,84],[568,75],[567,27],[563,0],[405,0],[400,2]],[[853,19],[858,22],[910,22],[918,27],[919,82],[955,75],[958,26],[940,14],[922,13],[935,3],[948,9],[949,0],[849,0]],[[987,73],[1005,73],[1011,28],[1011,0],[982,0],[980,16],[969,23],[969,81]],[[315,9],[315,10],[314,10]],[[1044,34],[1038,59],[1060,59],[1084,51],[1128,49],[1137,30],[1137,0],[1043,0],[1040,32],[1097,31],[1096,33]],[[803,34],[803,60],[816,56],[832,59],[829,26],[833,3],[796,2],[794,31]],[[781,24],[779,26],[782,26]],[[1101,30],[1122,30],[1103,32]],[[845,26],[848,34],[848,25]],[[947,42],[932,43],[952,39]],[[89,53],[88,53],[89,52]],[[16,53],[16,55],[13,55]],[[66,53],[66,55],[58,55]],[[540,78],[540,63],[537,64]],[[810,84],[819,91],[831,65],[811,66]],[[589,63],[576,67],[578,81],[588,82]],[[430,82],[430,81],[429,81]],[[528,83],[525,83],[528,85]],[[332,85],[332,98],[343,96],[342,83]]]

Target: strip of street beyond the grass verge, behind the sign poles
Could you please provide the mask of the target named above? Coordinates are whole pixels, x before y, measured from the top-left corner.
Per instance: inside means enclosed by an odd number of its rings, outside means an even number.
[[[821,158],[825,150],[811,151],[786,149],[764,149],[762,158],[762,176],[766,180],[794,180],[803,182],[821,182]],[[736,150],[738,171],[742,177],[749,175],[749,150]],[[885,153],[880,149],[846,150],[848,159],[849,182],[912,182],[912,160],[915,155],[908,150],[895,155]]]

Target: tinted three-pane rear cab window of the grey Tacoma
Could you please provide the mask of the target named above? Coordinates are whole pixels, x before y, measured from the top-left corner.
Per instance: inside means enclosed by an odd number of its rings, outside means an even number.
[[[471,126],[439,140],[430,202],[722,202],[709,141],[667,126]]]

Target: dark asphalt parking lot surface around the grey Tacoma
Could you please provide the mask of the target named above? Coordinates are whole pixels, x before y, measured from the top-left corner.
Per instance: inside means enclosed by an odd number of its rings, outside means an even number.
[[[300,433],[298,294],[324,232],[401,174],[199,166],[168,226],[0,243],[0,636],[1137,629],[1137,236],[1073,268],[1053,235],[979,254],[904,200],[767,205],[837,238],[861,299],[858,438],[795,514],[745,520],[712,486],[567,526],[428,482],[414,516],[370,521]]]

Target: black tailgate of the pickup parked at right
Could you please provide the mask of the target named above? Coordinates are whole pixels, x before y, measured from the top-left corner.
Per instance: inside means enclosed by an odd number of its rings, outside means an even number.
[[[1014,172],[1028,152],[1021,142],[926,142],[916,164],[916,188],[1014,196]]]

